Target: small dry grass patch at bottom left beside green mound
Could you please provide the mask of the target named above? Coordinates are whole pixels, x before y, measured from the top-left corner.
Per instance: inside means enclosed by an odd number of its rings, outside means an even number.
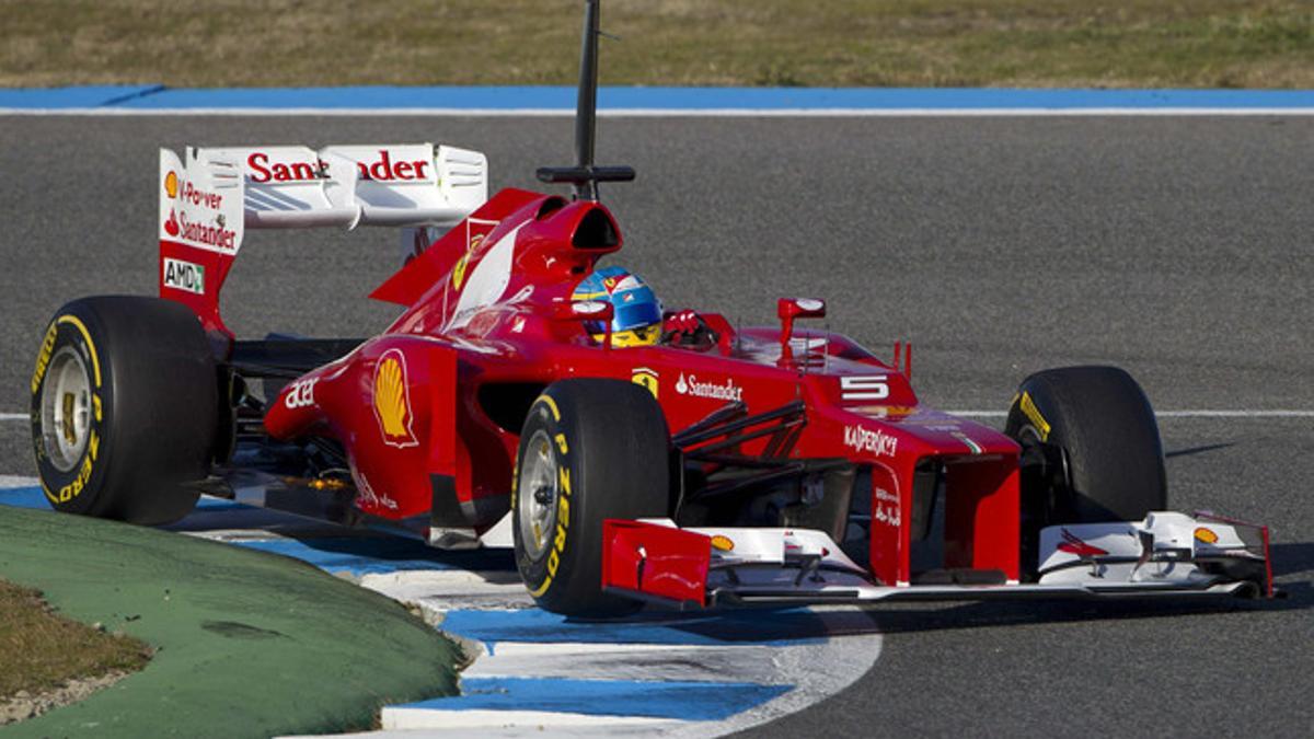
[[[54,613],[41,593],[0,580],[0,698],[39,693],[78,677],[137,671],[150,647]]]

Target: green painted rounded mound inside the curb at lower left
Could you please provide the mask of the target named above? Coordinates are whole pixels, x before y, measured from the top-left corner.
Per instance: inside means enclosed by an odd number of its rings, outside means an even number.
[[[272,736],[369,728],[456,693],[456,647],[397,602],[302,561],[0,506],[0,576],[152,648],[145,669],[5,736]]]

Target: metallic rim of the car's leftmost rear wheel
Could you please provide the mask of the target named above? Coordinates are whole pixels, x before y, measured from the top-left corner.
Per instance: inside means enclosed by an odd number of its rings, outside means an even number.
[[[91,377],[74,347],[50,359],[41,389],[41,439],[46,458],[60,472],[71,471],[87,451],[91,430]]]

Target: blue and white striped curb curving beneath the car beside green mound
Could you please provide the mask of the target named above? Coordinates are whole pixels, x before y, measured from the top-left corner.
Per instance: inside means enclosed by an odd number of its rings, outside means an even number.
[[[47,508],[32,477],[0,476],[0,505]],[[880,655],[857,609],[573,621],[533,606],[506,550],[440,552],[208,497],[170,529],[350,577],[463,644],[461,694],[386,706],[371,736],[716,736],[833,696]]]

